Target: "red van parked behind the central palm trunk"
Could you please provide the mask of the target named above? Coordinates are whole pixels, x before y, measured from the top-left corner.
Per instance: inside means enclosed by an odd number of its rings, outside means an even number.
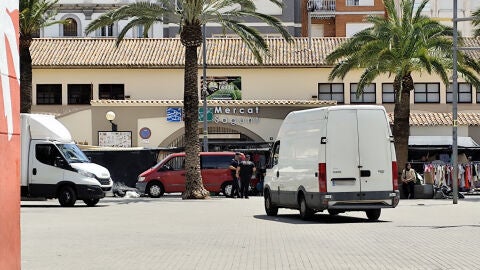
[[[201,152],[200,166],[203,186],[210,192],[229,196],[232,174],[228,166],[235,152]],[[185,191],[185,153],[168,155],[154,167],[140,174],[137,189],[152,198],[164,193]]]

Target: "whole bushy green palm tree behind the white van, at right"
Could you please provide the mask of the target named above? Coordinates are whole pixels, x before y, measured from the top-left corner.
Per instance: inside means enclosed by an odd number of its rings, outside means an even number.
[[[386,17],[367,17],[372,27],[357,33],[327,56],[330,64],[335,63],[330,80],[343,79],[352,70],[364,69],[357,96],[381,74],[394,77],[393,135],[398,164],[405,164],[408,159],[410,92],[414,89],[412,74],[433,72],[448,85],[448,73],[453,67],[453,29],[421,15],[428,0],[423,0],[417,9],[414,2],[402,0],[400,15],[394,0],[384,0]],[[458,72],[464,79],[480,86],[474,73],[480,71],[478,63],[459,53],[458,64]]]

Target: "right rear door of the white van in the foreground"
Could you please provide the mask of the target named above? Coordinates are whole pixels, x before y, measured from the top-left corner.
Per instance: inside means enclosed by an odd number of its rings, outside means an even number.
[[[390,129],[381,109],[358,110],[360,191],[391,191],[392,155]],[[362,199],[375,198],[375,193]],[[373,197],[372,197],[373,196]]]

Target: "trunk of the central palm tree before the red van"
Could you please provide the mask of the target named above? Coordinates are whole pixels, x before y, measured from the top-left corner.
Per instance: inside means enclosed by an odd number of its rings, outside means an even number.
[[[200,30],[200,26],[198,29]],[[188,30],[191,29],[187,29],[187,31]],[[190,38],[192,38],[192,36],[190,36]],[[202,175],[200,173],[200,144],[198,140],[198,43],[183,42],[183,44],[185,45],[183,109],[185,111],[186,179],[185,192],[182,198],[205,199],[209,197],[209,192],[203,187]]]

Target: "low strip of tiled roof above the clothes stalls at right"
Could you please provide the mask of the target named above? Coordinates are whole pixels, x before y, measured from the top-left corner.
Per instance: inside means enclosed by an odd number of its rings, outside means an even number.
[[[388,114],[393,123],[393,113]],[[451,126],[451,113],[410,113],[410,126]],[[459,126],[480,126],[480,113],[458,113]]]

